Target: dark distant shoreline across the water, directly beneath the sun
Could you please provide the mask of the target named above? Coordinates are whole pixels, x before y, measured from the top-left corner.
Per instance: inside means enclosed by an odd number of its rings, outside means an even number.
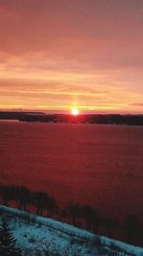
[[[143,126],[143,115],[120,114],[45,114],[42,112],[0,111],[0,119],[14,119],[23,122],[43,123],[90,123],[90,124],[117,124]]]

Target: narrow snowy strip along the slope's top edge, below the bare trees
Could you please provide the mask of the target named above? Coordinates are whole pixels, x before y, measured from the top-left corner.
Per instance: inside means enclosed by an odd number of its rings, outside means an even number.
[[[116,246],[128,254],[131,254],[134,256],[143,256],[142,247],[133,246],[131,244],[125,244],[123,242],[112,240],[104,236],[94,235],[92,234],[92,232],[74,227],[68,223],[55,221],[50,218],[40,217],[35,214],[30,214],[28,212],[20,211],[15,208],[10,208],[3,205],[0,205],[0,212],[6,213],[12,217],[14,216],[24,220],[29,220],[31,222],[41,224],[45,227],[48,227],[52,231],[61,232],[61,234],[65,234],[73,238],[82,239],[87,242],[92,242],[95,239],[99,239],[101,241],[101,244],[106,245],[108,247]]]

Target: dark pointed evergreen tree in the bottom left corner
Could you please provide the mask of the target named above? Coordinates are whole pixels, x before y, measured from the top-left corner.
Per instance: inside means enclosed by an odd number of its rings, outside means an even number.
[[[0,256],[21,256],[21,251],[16,247],[8,221],[2,218],[2,228],[0,230]]]

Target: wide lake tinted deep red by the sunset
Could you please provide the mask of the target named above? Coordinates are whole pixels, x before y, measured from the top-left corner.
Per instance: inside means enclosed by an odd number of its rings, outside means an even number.
[[[0,121],[0,182],[141,215],[143,127]]]

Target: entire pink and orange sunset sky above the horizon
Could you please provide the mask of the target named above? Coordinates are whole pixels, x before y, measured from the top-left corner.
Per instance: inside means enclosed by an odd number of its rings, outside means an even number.
[[[0,109],[143,113],[142,0],[0,0]]]

